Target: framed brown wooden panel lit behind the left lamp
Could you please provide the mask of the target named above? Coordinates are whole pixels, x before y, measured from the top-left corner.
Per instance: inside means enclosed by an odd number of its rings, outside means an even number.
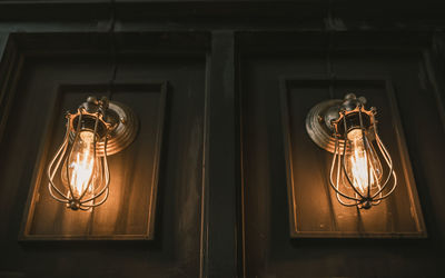
[[[55,92],[22,238],[152,239],[167,85],[120,83],[115,86],[112,96],[107,92],[107,85],[59,85]],[[127,105],[140,126],[135,141],[109,157],[108,200],[89,211],[72,211],[51,198],[46,171],[65,135],[65,111],[76,111],[88,96],[109,96],[110,100]]]

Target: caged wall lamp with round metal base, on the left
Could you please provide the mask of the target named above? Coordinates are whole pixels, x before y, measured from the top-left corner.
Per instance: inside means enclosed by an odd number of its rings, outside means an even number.
[[[109,193],[107,156],[128,147],[138,120],[125,105],[89,97],[76,113],[67,112],[63,142],[48,167],[51,197],[72,210],[102,205]]]

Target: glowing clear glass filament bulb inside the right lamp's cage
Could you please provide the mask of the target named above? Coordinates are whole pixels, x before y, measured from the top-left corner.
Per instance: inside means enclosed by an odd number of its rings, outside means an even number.
[[[365,135],[367,136],[367,135]],[[364,196],[373,191],[373,189],[380,188],[379,183],[383,176],[382,163],[370,140],[364,140],[360,129],[353,129],[347,133],[347,149],[345,153],[345,168],[346,172],[353,182],[353,186]],[[365,148],[365,143],[366,147]],[[368,170],[369,168],[369,170]],[[370,177],[368,178],[368,175]],[[344,177],[345,185],[349,182]]]

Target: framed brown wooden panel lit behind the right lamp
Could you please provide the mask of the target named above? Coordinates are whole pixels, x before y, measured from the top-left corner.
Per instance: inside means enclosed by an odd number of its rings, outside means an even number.
[[[329,86],[336,93],[329,96]],[[364,96],[377,107],[380,137],[388,148],[397,188],[368,210],[342,206],[328,183],[333,155],[308,137],[305,120],[320,101]],[[283,130],[289,195],[291,237],[425,237],[422,210],[407,156],[393,87],[385,79],[287,78],[281,81]]]

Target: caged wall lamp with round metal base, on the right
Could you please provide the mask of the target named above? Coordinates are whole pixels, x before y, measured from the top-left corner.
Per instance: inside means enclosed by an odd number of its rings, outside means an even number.
[[[365,103],[354,93],[320,102],[307,115],[306,130],[315,143],[334,153],[329,183],[338,201],[368,209],[394,191],[397,178],[377,132],[377,110],[366,110]]]

